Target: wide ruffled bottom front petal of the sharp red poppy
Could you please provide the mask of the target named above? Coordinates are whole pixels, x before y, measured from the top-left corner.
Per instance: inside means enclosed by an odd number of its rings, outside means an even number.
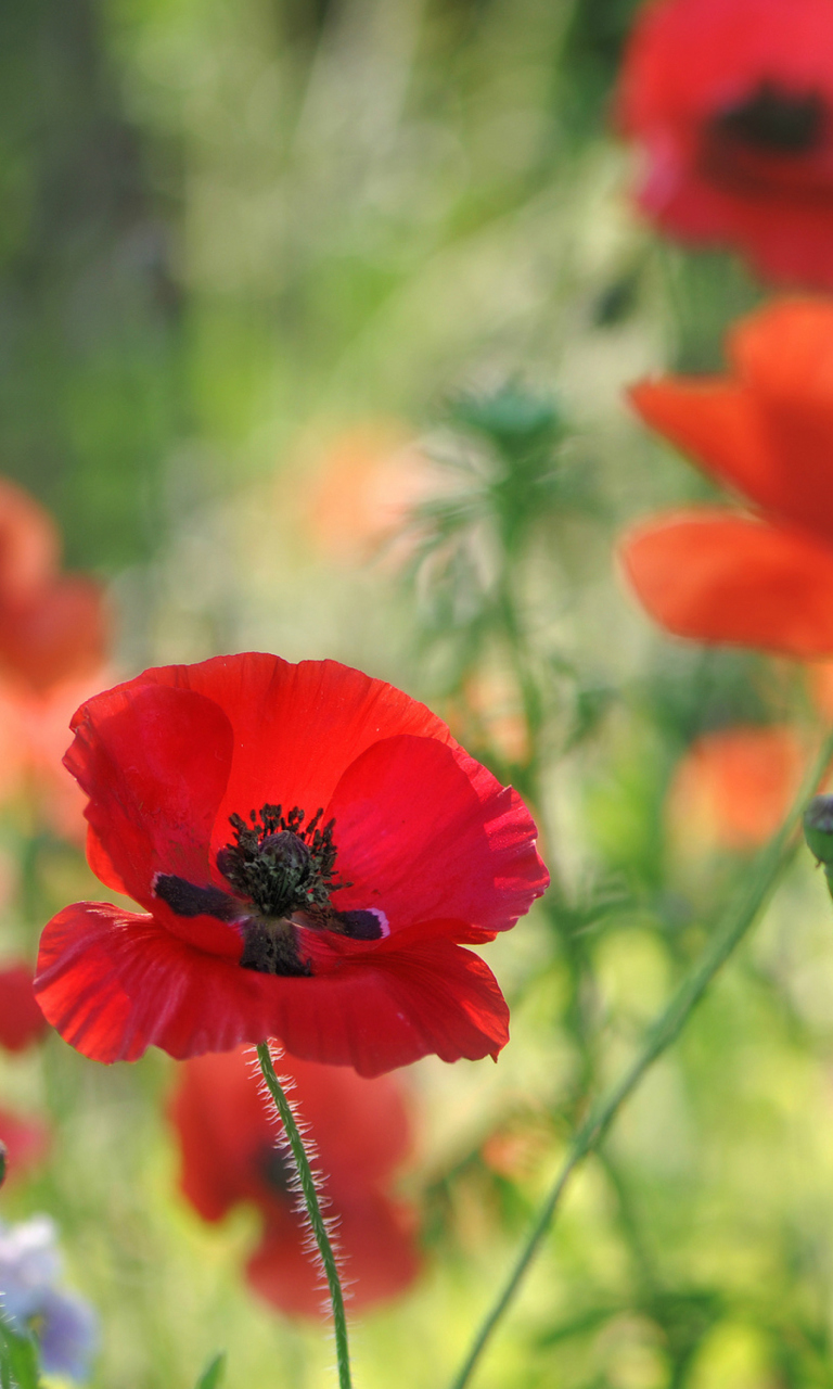
[[[36,993],[96,1061],[135,1060],[150,1043],[183,1058],[276,1036],[294,1056],[379,1075],[505,1045],[508,1008],[478,956],[443,938],[382,946],[319,978],[280,978],[192,949],[153,917],[76,903],[43,932]]]

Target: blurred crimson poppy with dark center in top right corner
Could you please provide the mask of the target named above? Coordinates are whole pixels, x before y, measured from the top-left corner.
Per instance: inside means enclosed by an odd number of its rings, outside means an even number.
[[[643,210],[737,247],[768,279],[833,288],[829,0],[655,0],[625,53],[618,125]]]

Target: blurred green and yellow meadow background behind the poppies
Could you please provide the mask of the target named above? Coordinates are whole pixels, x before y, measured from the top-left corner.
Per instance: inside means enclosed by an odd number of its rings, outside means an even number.
[[[532,801],[557,879],[490,947],[500,1064],[400,1076],[422,1270],[355,1318],[362,1389],[450,1378],[818,717],[793,667],[662,636],[616,574],[628,519],[712,494],[623,388],[719,369],[764,294],[632,206],[611,94],[634,11],[0,8],[0,472],[111,624],[107,675],[0,690],[0,965],[103,895],[57,768],[74,706],[222,651],[423,699]],[[482,1389],[833,1383],[830,926],[802,861],[580,1174]],[[189,1386],[224,1347],[228,1389],[329,1383],[329,1331],[242,1274],[254,1208],[205,1224],[179,1192],[176,1072],[0,1047],[0,1108],[49,1126],[0,1215],[58,1224],[101,1322],[92,1385]]]

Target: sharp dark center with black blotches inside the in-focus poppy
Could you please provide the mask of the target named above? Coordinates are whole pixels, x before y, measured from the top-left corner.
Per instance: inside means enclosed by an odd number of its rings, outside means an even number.
[[[215,917],[243,933],[240,965],[258,974],[312,974],[303,958],[300,929],[332,931],[354,940],[379,940],[387,931],[376,910],[337,911],[330,893],[350,888],[336,872],[335,820],[322,825],[318,810],[304,826],[304,811],[280,806],[230,815],[233,843],[217,854],[217,867],[233,889],[200,886],[174,874],[157,874],[154,895],[179,917]],[[243,899],[243,900],[242,900]]]

